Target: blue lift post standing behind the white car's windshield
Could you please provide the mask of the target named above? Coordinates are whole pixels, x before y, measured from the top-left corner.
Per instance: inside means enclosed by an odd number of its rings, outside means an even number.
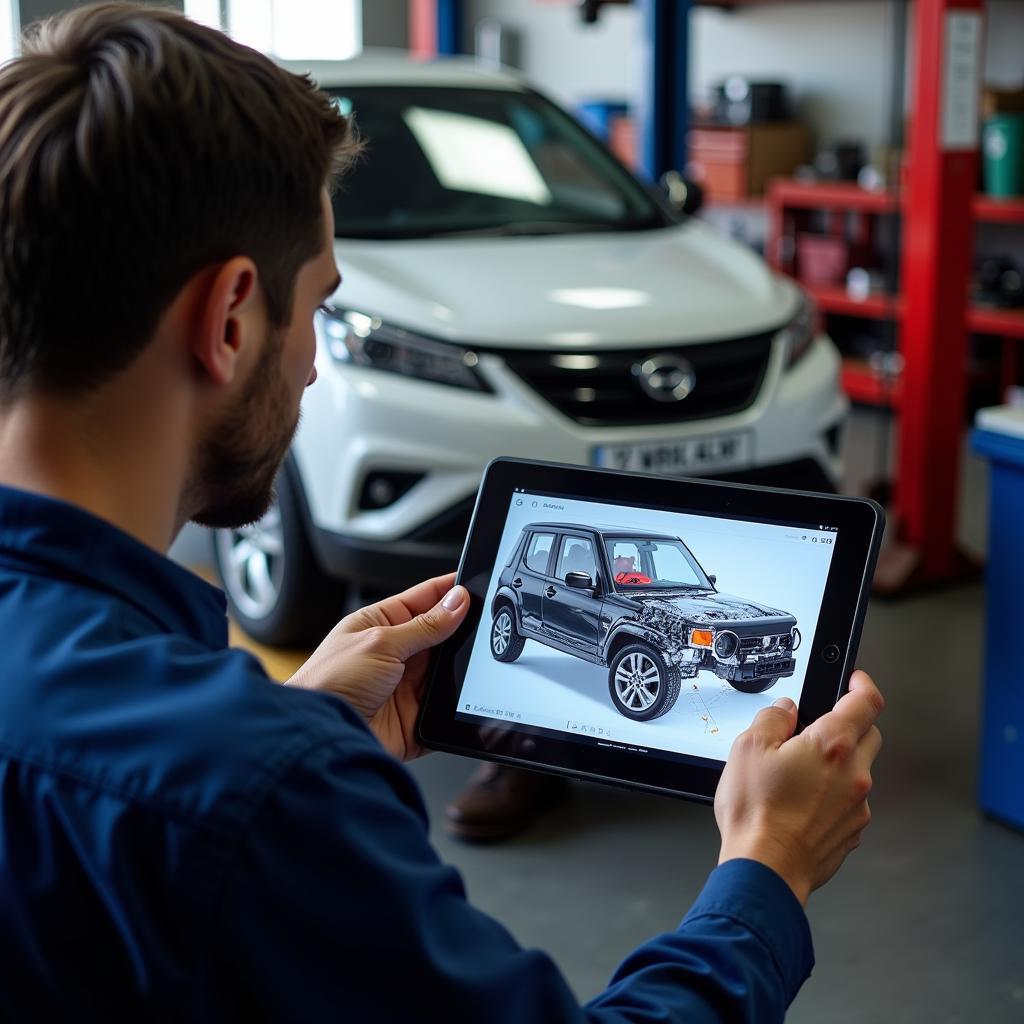
[[[686,165],[689,14],[692,0],[638,0],[643,16],[643,91],[637,110],[640,169],[657,181]]]

